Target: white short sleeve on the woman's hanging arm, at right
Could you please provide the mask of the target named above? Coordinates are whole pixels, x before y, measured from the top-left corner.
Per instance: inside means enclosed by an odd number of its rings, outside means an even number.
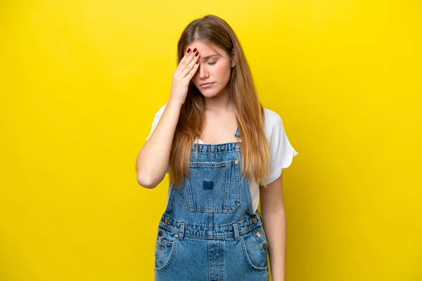
[[[266,133],[269,142],[269,176],[266,182],[260,181],[259,185],[268,185],[281,176],[282,169],[287,168],[293,161],[293,157],[298,152],[288,141],[286,131],[284,131],[281,117],[271,111],[271,115],[266,116]]]

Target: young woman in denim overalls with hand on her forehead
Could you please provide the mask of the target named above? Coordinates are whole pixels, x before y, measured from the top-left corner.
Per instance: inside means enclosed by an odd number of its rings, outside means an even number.
[[[177,51],[170,98],[136,160],[143,187],[170,178],[155,280],[269,280],[267,254],[273,280],[284,280],[281,171],[298,152],[279,115],[262,107],[224,20],[193,20]]]

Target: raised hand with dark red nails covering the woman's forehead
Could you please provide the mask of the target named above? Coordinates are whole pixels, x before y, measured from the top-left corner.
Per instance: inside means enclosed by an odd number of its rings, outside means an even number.
[[[189,48],[174,71],[170,99],[177,100],[181,105],[185,102],[189,82],[198,70],[199,64],[199,51],[196,48],[191,51]]]

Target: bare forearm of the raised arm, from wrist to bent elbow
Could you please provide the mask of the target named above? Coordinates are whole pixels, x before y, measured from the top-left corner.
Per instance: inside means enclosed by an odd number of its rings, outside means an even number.
[[[139,185],[144,188],[155,188],[165,177],[180,108],[179,101],[169,100],[157,127],[139,151],[136,173]]]

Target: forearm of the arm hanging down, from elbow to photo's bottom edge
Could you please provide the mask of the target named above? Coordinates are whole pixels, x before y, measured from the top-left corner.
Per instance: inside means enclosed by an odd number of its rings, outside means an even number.
[[[268,242],[269,262],[273,281],[286,278],[286,211],[262,209],[262,225]]]

